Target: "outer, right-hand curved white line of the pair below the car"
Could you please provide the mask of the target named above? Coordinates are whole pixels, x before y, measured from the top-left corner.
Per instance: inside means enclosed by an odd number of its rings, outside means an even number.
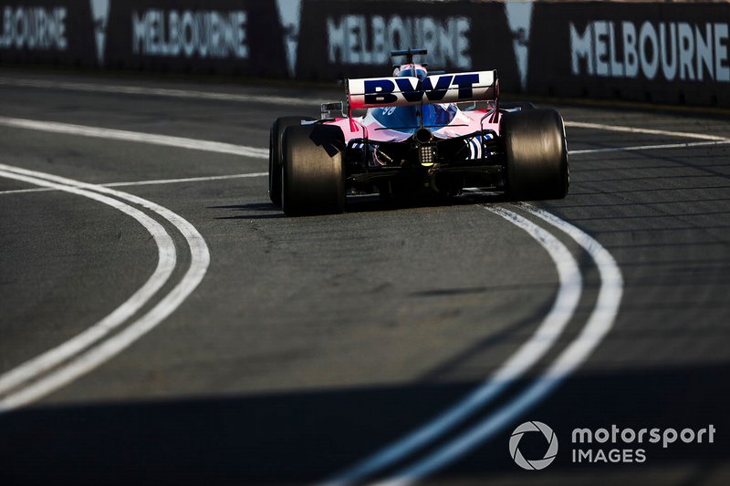
[[[593,349],[600,344],[613,326],[623,294],[623,277],[611,254],[589,234],[561,220],[558,216],[526,203],[519,203],[517,206],[555,226],[563,233],[567,233],[589,253],[599,269],[601,281],[598,300],[593,312],[579,336],[553,361],[547,371],[533,381],[530,387],[517,398],[489,414],[486,419],[467,429],[462,435],[452,439],[424,459],[393,473],[388,479],[377,484],[388,486],[412,484],[443,469],[486,439],[494,437],[522,413],[534,407],[562,380],[575,371],[590,356]]]

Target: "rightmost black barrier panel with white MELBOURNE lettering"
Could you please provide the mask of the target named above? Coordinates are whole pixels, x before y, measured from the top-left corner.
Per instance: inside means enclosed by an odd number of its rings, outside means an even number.
[[[730,107],[730,3],[536,4],[527,91]]]

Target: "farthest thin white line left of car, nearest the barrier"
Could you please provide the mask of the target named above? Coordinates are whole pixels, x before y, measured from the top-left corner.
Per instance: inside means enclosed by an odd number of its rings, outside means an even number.
[[[214,93],[195,89],[145,88],[142,86],[101,85],[70,81],[47,81],[41,79],[0,78],[0,86],[20,88],[64,89],[88,93],[109,93],[113,95],[157,96],[164,98],[210,99],[216,101],[237,101],[242,103],[274,103],[276,105],[316,107],[327,103],[327,99],[291,98],[282,96],[247,95],[237,93]]]

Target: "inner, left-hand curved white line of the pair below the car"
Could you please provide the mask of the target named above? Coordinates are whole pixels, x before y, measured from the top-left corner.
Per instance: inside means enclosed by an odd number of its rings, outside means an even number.
[[[361,481],[372,473],[383,470],[402,460],[415,450],[419,450],[433,440],[438,439],[449,429],[463,422],[464,419],[468,419],[479,408],[485,407],[493,398],[512,385],[516,379],[522,377],[527,369],[537,363],[537,360],[545,356],[547,350],[553,346],[570,318],[574,315],[580,299],[582,278],[578,263],[568,251],[568,248],[560,243],[555,236],[515,212],[496,206],[485,209],[502,216],[508,222],[527,232],[549,253],[558,269],[560,283],[558,295],[550,312],[545,316],[540,326],[537,327],[535,334],[526,343],[507,358],[506,362],[488,377],[480,387],[474,389],[453,408],[448,409],[436,419],[369,458],[360,461],[349,470],[345,470],[332,479],[325,481],[326,484],[339,485]]]

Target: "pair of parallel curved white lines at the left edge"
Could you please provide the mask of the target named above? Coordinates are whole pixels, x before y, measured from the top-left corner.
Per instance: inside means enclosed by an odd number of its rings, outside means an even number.
[[[210,253],[203,236],[190,222],[167,208],[138,196],[5,164],[0,164],[0,176],[67,191],[108,204],[141,222],[151,233],[159,249],[159,261],[154,273],[147,283],[124,304],[99,323],[89,327],[87,331],[0,376],[0,413],[3,413],[8,409],[21,407],[38,398],[43,398],[58,388],[68,385],[76,378],[99,367],[111,357],[115,357],[134,341],[158,326],[183,304],[187,296],[203,280],[210,264]],[[159,295],[159,291],[170,279],[178,262],[177,253],[170,233],[167,233],[159,222],[141,212],[140,207],[172,224],[183,235],[190,251],[191,260],[188,270],[180,282],[165,295]],[[132,315],[143,305],[151,302],[154,297],[160,299],[156,305],[121,328],[116,334],[111,334],[129,321]]]

